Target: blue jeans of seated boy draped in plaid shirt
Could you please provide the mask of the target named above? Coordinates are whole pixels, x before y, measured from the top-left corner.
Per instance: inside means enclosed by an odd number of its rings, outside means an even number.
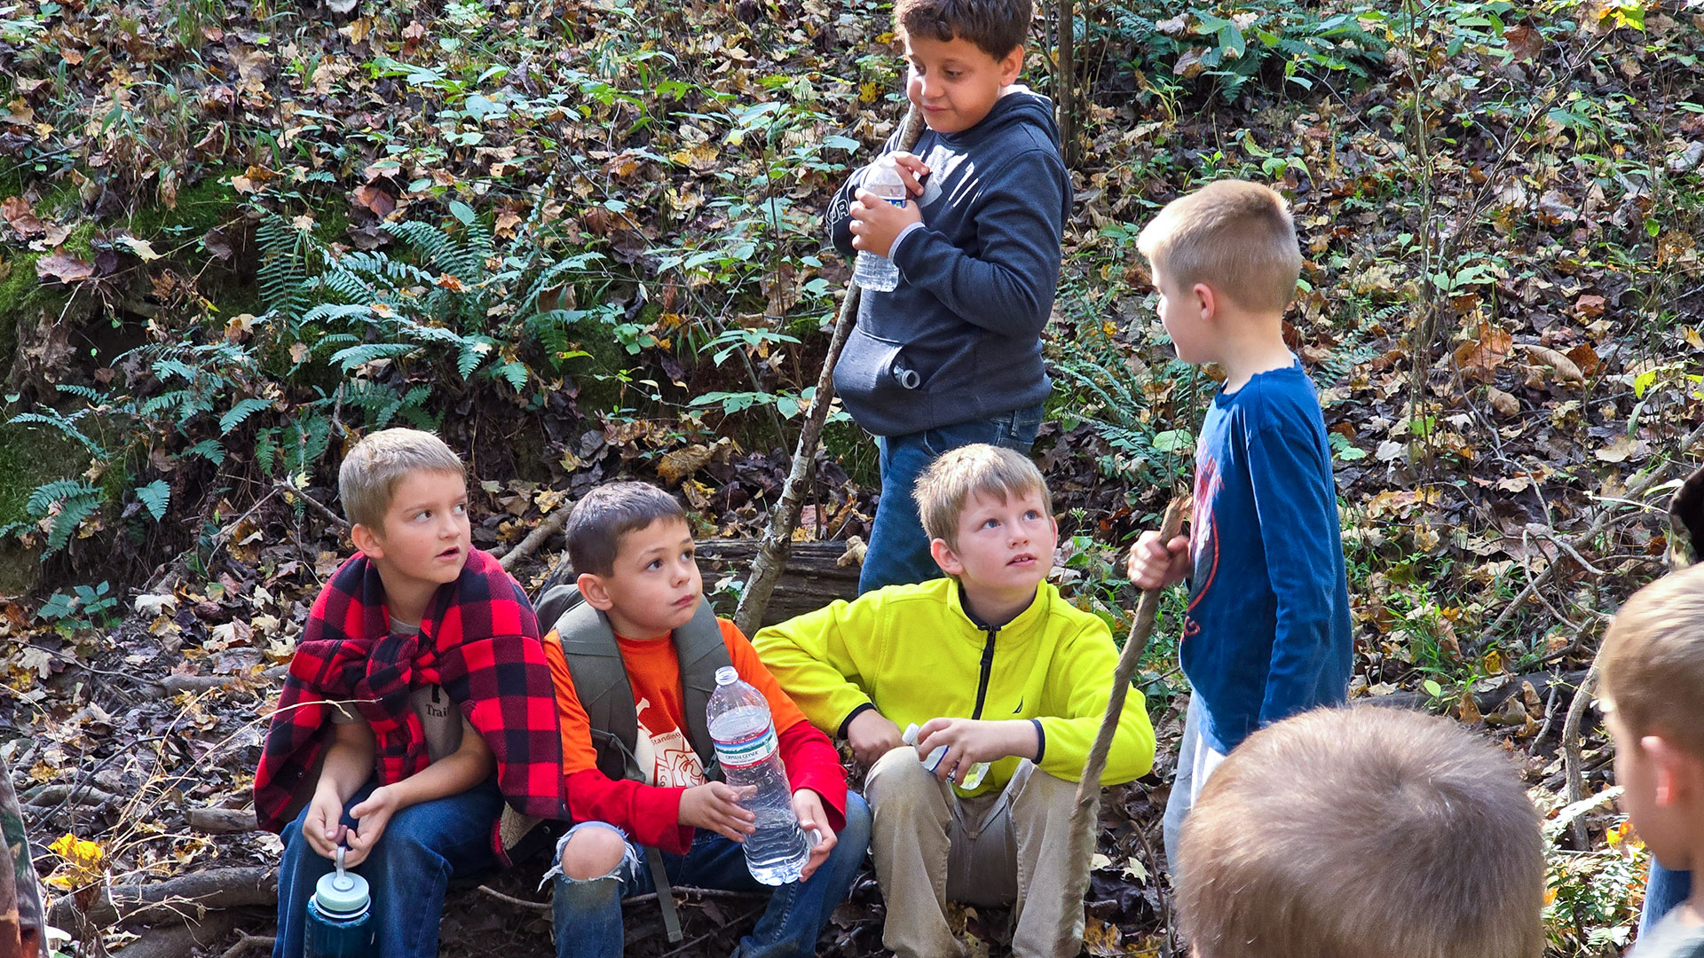
[[[344,805],[349,810],[377,788],[370,781]],[[438,958],[438,919],[452,874],[496,868],[491,823],[503,811],[496,776],[463,791],[397,811],[371,854],[354,868],[373,895],[373,929],[382,958]],[[307,808],[285,828],[285,856],[278,863],[278,941],[273,958],[302,958],[308,898],[320,876],[336,866],[302,837]]]

